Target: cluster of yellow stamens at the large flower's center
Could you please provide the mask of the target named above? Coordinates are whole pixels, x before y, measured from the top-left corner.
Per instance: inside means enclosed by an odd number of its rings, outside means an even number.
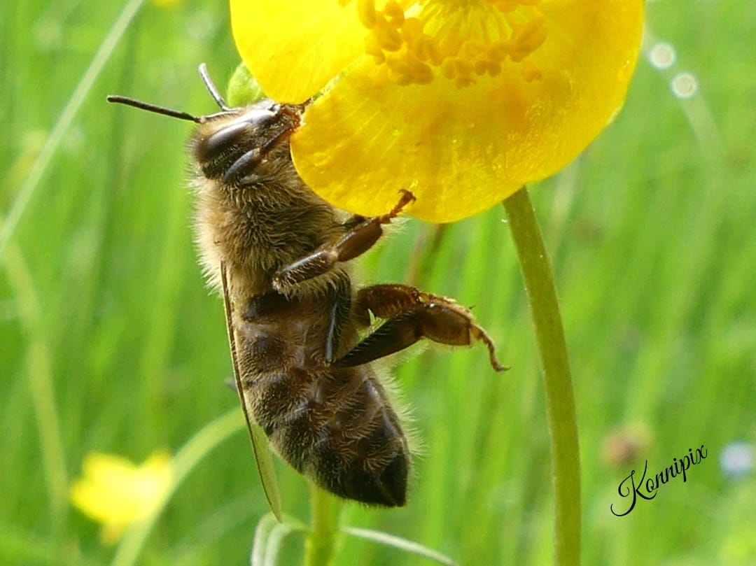
[[[349,0],[339,0],[342,5]],[[369,31],[365,52],[398,85],[428,84],[442,76],[458,88],[476,76],[497,76],[507,60],[523,78],[541,78],[528,55],[544,43],[541,0],[357,0]]]

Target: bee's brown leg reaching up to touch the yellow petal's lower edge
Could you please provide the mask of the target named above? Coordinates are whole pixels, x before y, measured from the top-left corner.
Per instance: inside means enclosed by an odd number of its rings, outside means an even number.
[[[383,224],[389,224],[393,218],[399,215],[401,209],[404,209],[404,206],[407,206],[414,199],[415,197],[410,191],[403,190],[401,199],[390,212],[367,218],[336,242],[327,243],[310,255],[284,265],[273,276],[274,288],[277,291],[284,292],[287,287],[327,273],[340,261],[349,261],[364,254],[383,235]]]

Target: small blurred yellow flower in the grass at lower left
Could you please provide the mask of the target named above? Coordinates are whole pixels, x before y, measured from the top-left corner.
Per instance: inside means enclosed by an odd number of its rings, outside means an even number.
[[[116,543],[129,524],[146,518],[163,500],[172,481],[171,456],[156,452],[142,465],[111,454],[90,453],[84,474],[71,486],[71,502],[102,523],[101,539]]]

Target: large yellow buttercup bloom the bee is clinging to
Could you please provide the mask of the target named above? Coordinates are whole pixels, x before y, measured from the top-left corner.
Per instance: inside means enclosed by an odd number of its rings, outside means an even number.
[[[268,96],[323,90],[291,139],[302,178],[362,215],[454,221],[575,159],[621,107],[643,0],[231,0]],[[336,80],[333,80],[336,79]]]

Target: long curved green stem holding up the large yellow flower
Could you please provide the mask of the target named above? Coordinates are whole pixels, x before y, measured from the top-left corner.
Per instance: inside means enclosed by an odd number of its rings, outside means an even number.
[[[519,258],[541,365],[551,436],[555,564],[580,564],[580,453],[575,395],[549,259],[528,190],[503,202]]]

